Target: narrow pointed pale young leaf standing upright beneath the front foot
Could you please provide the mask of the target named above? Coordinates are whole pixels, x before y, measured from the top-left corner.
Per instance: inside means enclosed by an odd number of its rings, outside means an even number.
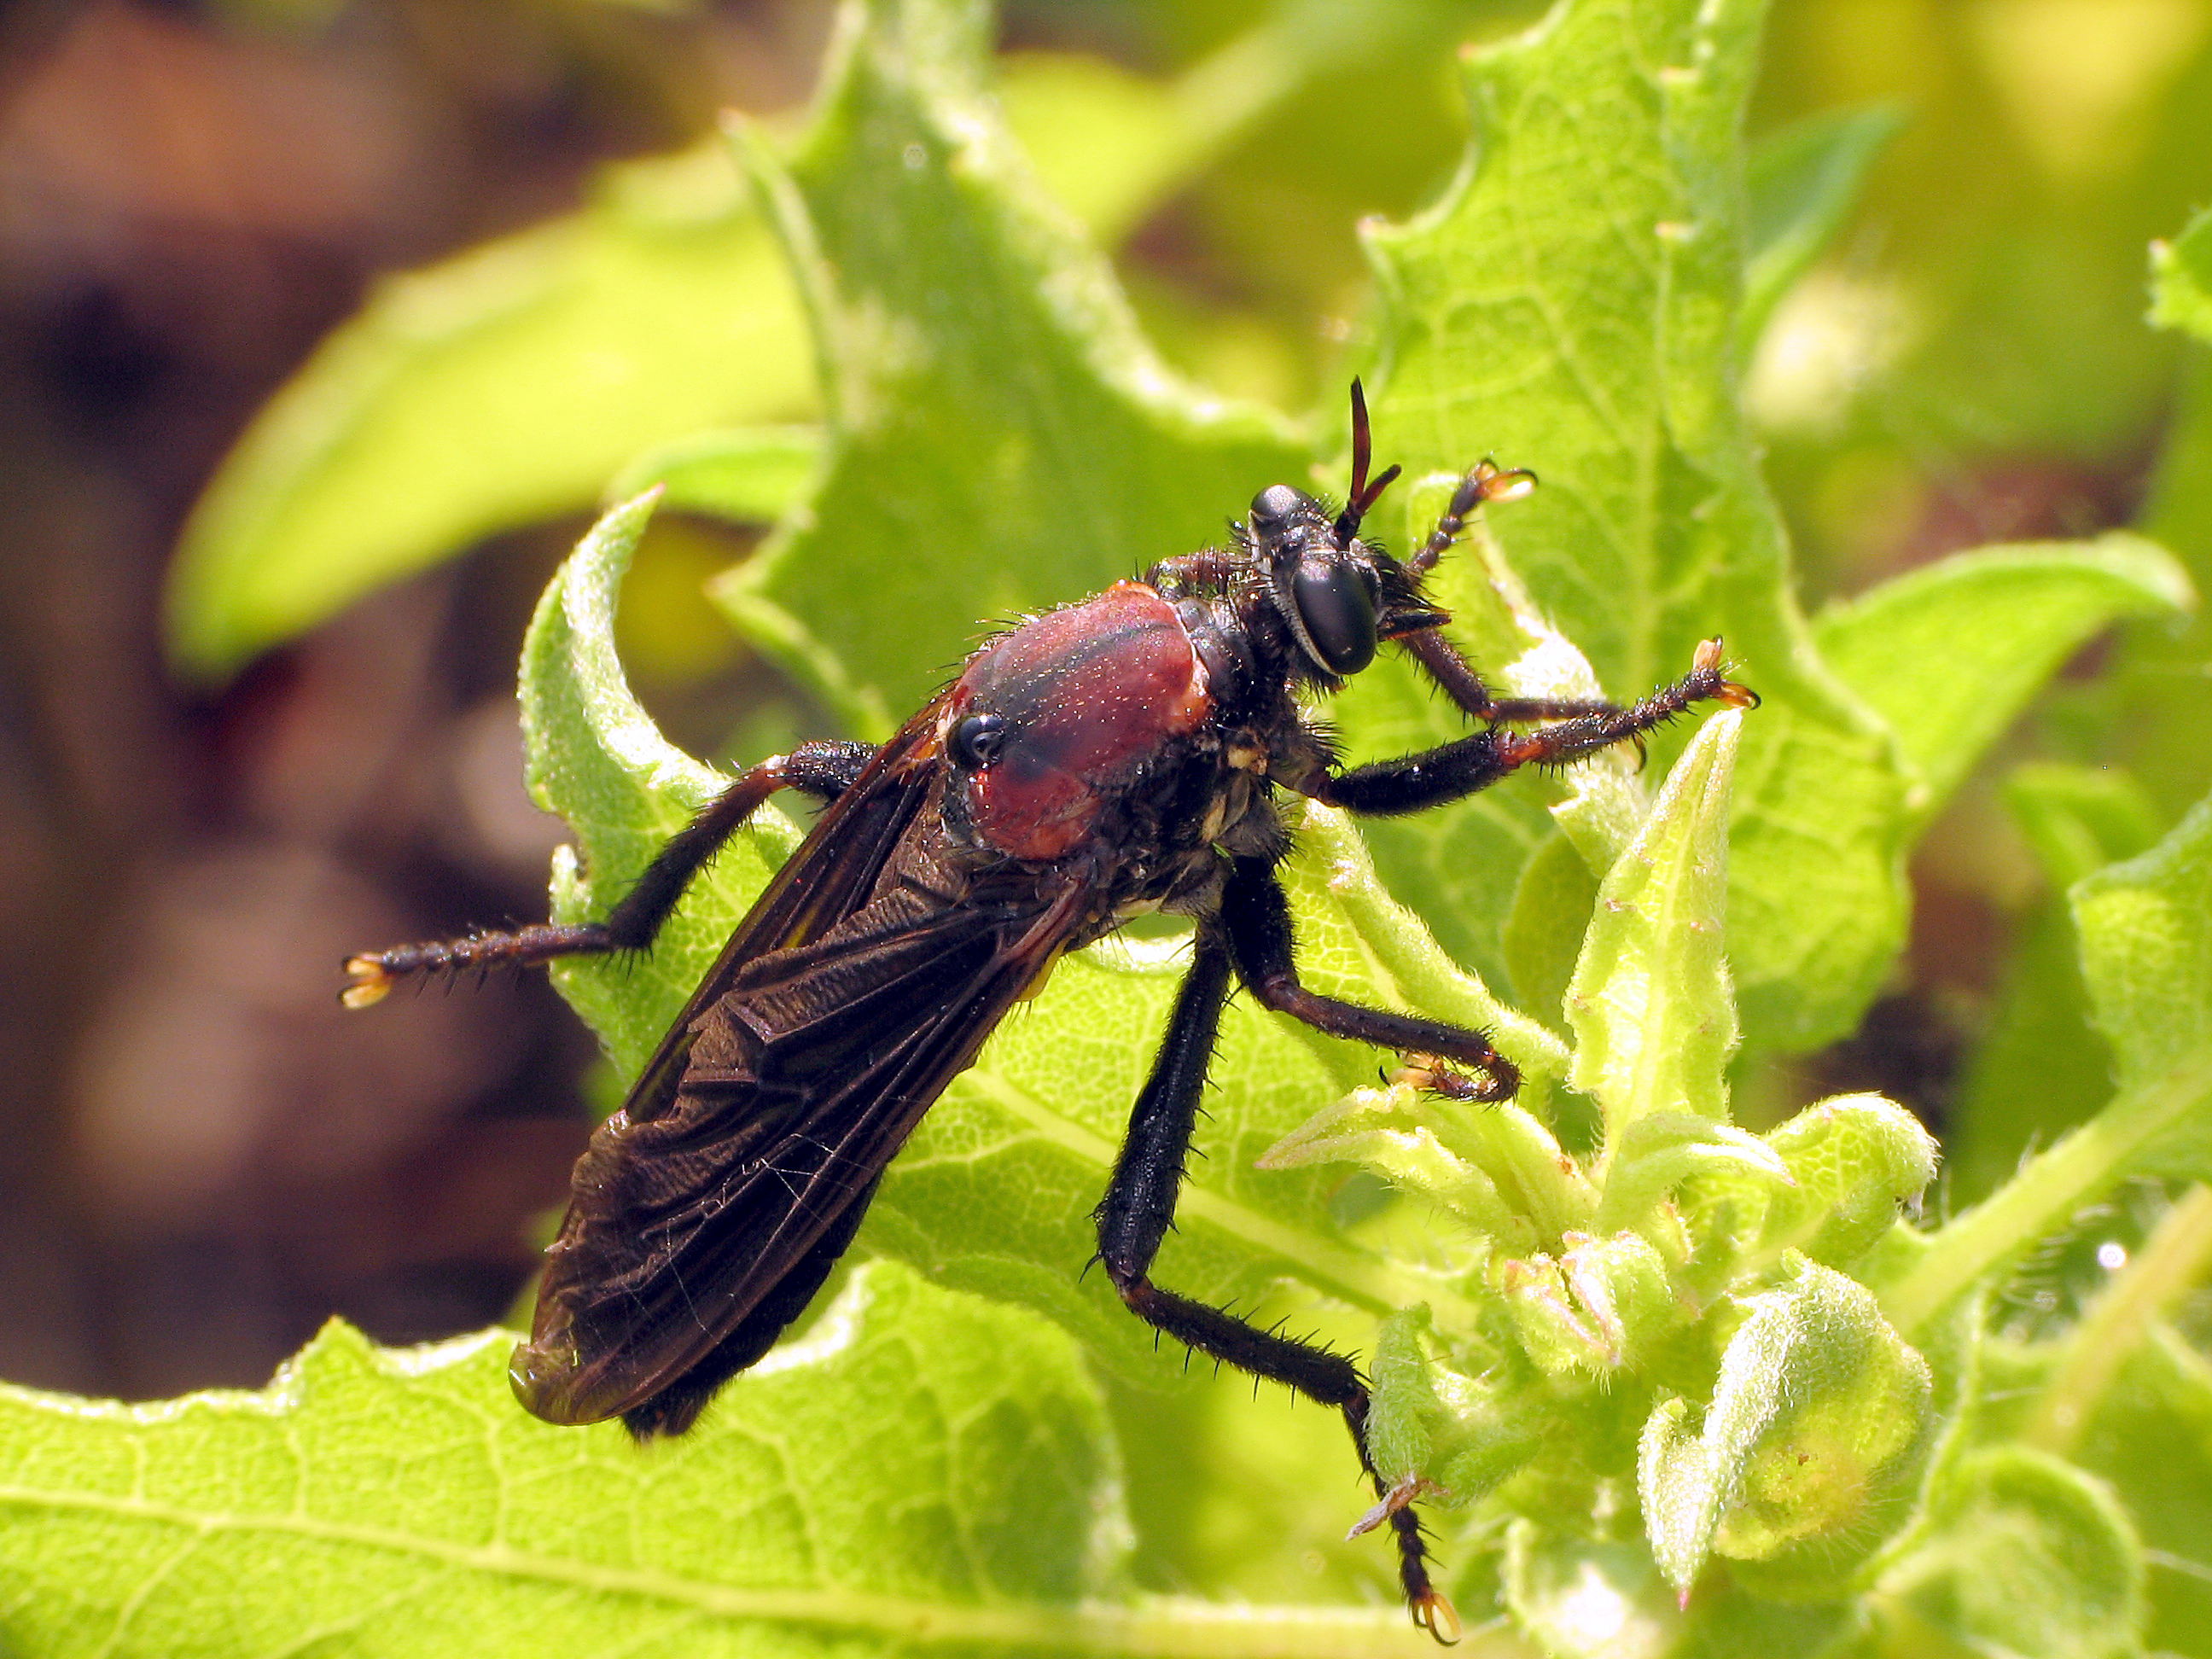
[[[1714,714],[1668,774],[1644,830],[1599,885],[1566,991],[1571,1082],[1606,1115],[1608,1157],[1659,1113],[1728,1117],[1721,1068],[1736,1013],[1721,956],[1728,785],[1743,714]]]

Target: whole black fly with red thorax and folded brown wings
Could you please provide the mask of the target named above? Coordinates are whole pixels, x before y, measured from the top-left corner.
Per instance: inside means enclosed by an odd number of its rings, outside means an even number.
[[[1152,1283],[1175,1217],[1206,1066],[1234,984],[1336,1037],[1394,1048],[1409,1077],[1469,1102],[1520,1084],[1480,1031],[1367,1009],[1298,982],[1276,865],[1285,790],[1352,814],[1444,805],[1522,765],[1595,754],[1692,703],[1752,706],[1721,641],[1630,708],[1493,697],[1444,639],[1422,575],[1482,502],[1535,478],[1484,460],[1429,540],[1396,560],[1358,538],[1398,467],[1369,480],[1352,383],[1340,511],[1274,484],[1234,544],[1155,564],[984,641],[880,748],[801,743],[754,765],[646,865],[606,920],[405,945],[347,962],[345,1002],[394,980],[646,949],[686,885],[776,790],[825,803],[577,1159],[511,1378],[551,1422],[622,1418],[684,1433],[759,1360],[852,1243],[885,1166],[991,1029],[1053,962],[1141,911],[1194,920],[1152,1073],[1106,1197],[1097,1259],[1155,1329],[1336,1407],[1383,1500],[1413,1619],[1449,1639],[1413,1489],[1367,1455],[1354,1363]],[[1345,768],[1307,703],[1391,644],[1478,728]],[[1531,726],[1515,732],[1515,726]]]

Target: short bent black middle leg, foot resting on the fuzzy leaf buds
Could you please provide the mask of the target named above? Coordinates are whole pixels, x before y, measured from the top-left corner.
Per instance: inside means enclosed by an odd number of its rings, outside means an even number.
[[[1263,1006],[1303,1020],[1332,1037],[1371,1042],[1378,1048],[1396,1048],[1402,1055],[1451,1062],[1482,1073],[1478,1082],[1455,1075],[1451,1066],[1429,1064],[1422,1068],[1425,1084],[1455,1099],[1513,1099],[1520,1088],[1520,1071],[1491,1048],[1491,1040],[1480,1031],[1422,1020],[1416,1013],[1363,1009],[1356,1002],[1338,1002],[1307,991],[1298,982],[1290,902],[1265,858],[1237,860],[1221,896],[1221,925],[1237,960],[1237,978],[1252,987],[1252,995]]]

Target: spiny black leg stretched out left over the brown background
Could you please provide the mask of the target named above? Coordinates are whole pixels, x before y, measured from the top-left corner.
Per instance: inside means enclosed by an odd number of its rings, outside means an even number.
[[[374,956],[347,958],[352,984],[341,993],[349,1009],[380,1002],[392,982],[409,973],[458,973],[465,969],[529,967],[557,956],[604,956],[608,951],[641,951],[661,931],[684,889],[708,860],[721,852],[745,821],[776,790],[799,790],[816,801],[834,801],[876,757],[867,743],[801,743],[790,754],[776,754],[745,772],[737,783],[699,807],[699,814],[677,830],[637,885],[624,894],[602,922],[535,922],[511,933],[471,933],[429,945],[394,945]]]

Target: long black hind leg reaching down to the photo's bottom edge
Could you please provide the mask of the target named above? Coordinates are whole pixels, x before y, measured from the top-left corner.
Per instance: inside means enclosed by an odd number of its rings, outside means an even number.
[[[1175,1197],[1183,1181],[1183,1159],[1199,1117],[1206,1088],[1206,1066],[1214,1053],[1221,1026],[1221,1004],[1230,991],[1230,942],[1212,927],[1199,929],[1197,960],[1175,1000],[1168,1035],[1152,1062],[1152,1075],[1137,1095],[1128,1119],[1121,1157],[1097,1208],[1099,1259],[1121,1294],[1124,1305],[1157,1332],[1210,1354],[1270,1383],[1283,1383],[1318,1405],[1345,1413],[1360,1469],[1387,1498],[1391,1482],[1367,1455],[1367,1383],[1343,1354],[1301,1343],[1276,1332],[1263,1332],[1219,1307],[1177,1296],[1150,1281],[1152,1259],[1175,1223]],[[1405,1584],[1413,1621],[1438,1641],[1458,1635],[1460,1621],[1451,1601],[1429,1582],[1427,1546],[1420,1522],[1409,1506],[1389,1515],[1398,1540],[1398,1579]]]

